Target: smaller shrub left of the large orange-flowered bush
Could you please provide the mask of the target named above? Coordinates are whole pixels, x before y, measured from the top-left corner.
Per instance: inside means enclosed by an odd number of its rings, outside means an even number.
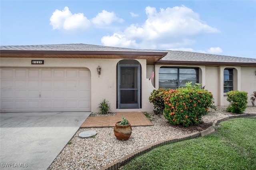
[[[159,88],[157,90],[153,90],[150,93],[149,101],[154,104],[154,113],[162,114],[164,111],[164,92],[167,92],[167,89]]]

